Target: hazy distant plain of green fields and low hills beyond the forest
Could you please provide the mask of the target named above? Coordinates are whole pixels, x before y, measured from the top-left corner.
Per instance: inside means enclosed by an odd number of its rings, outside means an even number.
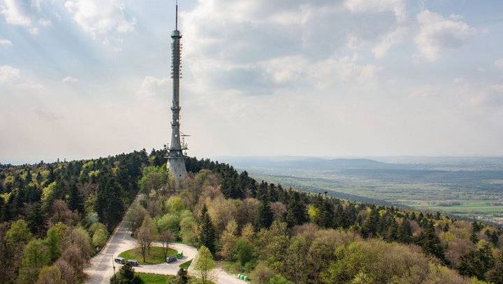
[[[503,158],[232,158],[258,180],[361,202],[441,211],[503,225]]]

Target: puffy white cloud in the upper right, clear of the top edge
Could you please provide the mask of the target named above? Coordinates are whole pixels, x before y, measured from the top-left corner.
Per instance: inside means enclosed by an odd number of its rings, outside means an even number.
[[[446,19],[430,10],[418,13],[417,20],[421,27],[415,38],[416,45],[429,61],[437,60],[444,49],[461,47],[477,33],[465,22]]]

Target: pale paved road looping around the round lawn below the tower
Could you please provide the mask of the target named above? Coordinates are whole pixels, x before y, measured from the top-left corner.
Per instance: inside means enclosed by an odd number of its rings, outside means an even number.
[[[98,255],[92,257],[89,262],[89,266],[84,269],[87,279],[85,283],[87,284],[109,284],[110,277],[113,276],[114,266],[118,271],[120,269],[120,264],[114,264],[113,258],[136,246],[136,241],[131,237],[131,232],[126,226],[126,222],[122,221],[115,231],[113,232],[110,239],[108,239],[107,244],[101,250]],[[152,265],[142,265],[135,267],[137,272],[154,273],[154,274],[166,274],[166,275],[176,275],[178,272],[178,267],[183,262],[191,260],[197,253],[197,249],[193,246],[187,246],[184,244],[171,243],[170,248],[176,251],[182,251],[184,258],[173,264],[161,263]],[[189,267],[189,274],[196,275],[194,267],[191,264]],[[214,274],[214,282],[218,284],[245,284],[245,281],[239,280],[236,276],[228,274],[222,269],[214,269],[212,274]]]

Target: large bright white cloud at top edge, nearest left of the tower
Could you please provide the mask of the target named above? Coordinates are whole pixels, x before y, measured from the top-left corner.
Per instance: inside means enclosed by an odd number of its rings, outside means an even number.
[[[136,20],[126,18],[121,0],[68,0],[64,6],[85,33],[104,43],[135,30]]]

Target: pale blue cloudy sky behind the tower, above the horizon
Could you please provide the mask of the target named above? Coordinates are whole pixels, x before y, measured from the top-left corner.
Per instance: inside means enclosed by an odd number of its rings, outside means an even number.
[[[162,147],[170,0],[0,0],[0,162]],[[180,0],[191,155],[503,154],[500,0]]]

